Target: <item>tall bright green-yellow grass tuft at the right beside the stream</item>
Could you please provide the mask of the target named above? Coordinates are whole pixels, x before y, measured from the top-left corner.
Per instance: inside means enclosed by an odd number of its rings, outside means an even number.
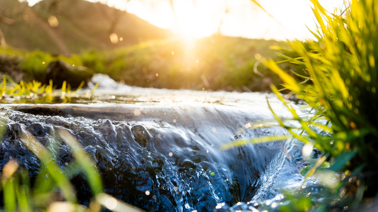
[[[311,117],[303,118],[286,102],[285,106],[299,122],[293,130],[278,116],[280,125],[292,135],[323,152],[307,176],[316,169],[343,172],[338,189],[352,192],[354,199],[377,195],[378,182],[378,0],[351,0],[334,13],[311,0],[317,29],[315,40],[290,41],[298,55],[284,61],[302,66],[296,73],[302,81],[284,72],[276,62],[263,63],[284,81],[291,91],[314,108]],[[324,120],[323,122],[321,120]],[[327,166],[322,166],[323,160]],[[349,183],[348,183],[349,182]],[[353,186],[350,182],[354,182]],[[345,190],[344,190],[345,191]],[[344,192],[343,195],[348,194]],[[342,196],[342,195],[340,195]]]

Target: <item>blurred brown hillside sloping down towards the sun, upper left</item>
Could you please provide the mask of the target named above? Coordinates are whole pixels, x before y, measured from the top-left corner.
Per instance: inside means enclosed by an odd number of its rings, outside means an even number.
[[[15,20],[13,26],[0,23],[8,45],[52,54],[110,50],[166,38],[170,33],[136,15],[84,0],[43,0],[33,7],[17,0],[0,0],[0,15]],[[52,15],[58,20],[56,27],[48,22]],[[110,42],[113,32],[118,35],[117,44]]]

